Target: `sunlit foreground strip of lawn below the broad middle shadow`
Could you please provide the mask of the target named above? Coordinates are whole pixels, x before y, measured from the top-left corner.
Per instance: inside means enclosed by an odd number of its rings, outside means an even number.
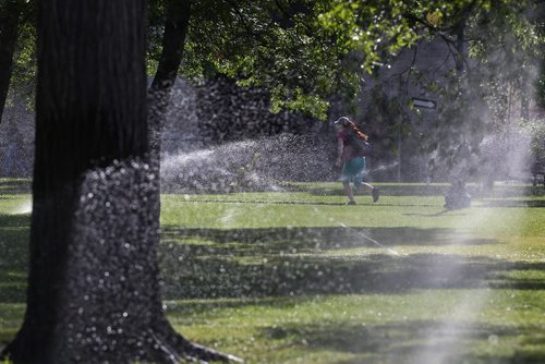
[[[411,363],[422,347],[440,350],[441,342],[452,340],[460,341],[456,354],[471,357],[470,363],[480,356],[483,363],[507,363],[543,354],[538,340],[544,331],[537,323],[545,310],[543,292],[535,298],[494,291],[480,311],[456,315],[457,306],[473,295],[479,292],[423,290],[402,295],[178,301],[169,302],[167,312],[180,331],[252,363]],[[541,303],[529,308],[528,301]],[[194,308],[202,305],[206,308]]]

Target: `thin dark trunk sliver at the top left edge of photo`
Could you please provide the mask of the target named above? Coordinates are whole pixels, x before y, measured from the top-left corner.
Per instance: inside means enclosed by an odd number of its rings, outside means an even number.
[[[10,88],[20,17],[21,1],[2,0],[0,3],[0,122]]]

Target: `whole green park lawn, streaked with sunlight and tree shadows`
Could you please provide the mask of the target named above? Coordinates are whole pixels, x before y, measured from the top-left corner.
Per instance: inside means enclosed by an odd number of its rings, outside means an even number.
[[[0,342],[24,313],[23,182],[0,180]],[[164,195],[171,323],[247,363],[545,363],[543,193],[445,211],[445,185],[379,186]]]

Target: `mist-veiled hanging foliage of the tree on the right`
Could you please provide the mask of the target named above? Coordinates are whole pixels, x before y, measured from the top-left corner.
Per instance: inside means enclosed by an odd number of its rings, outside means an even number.
[[[353,4],[340,8],[339,19],[346,20],[347,9],[353,8]],[[414,137],[403,141],[405,151],[433,156],[432,170],[447,167],[464,177],[484,172],[483,166],[488,163],[476,157],[482,151],[483,137],[492,133],[499,137],[508,134],[512,124],[518,125],[513,110],[518,110],[519,105],[524,108],[523,102],[528,109],[532,97],[531,80],[542,57],[544,40],[538,34],[538,23],[529,15],[534,9],[533,2],[408,1],[400,9],[416,39],[435,39],[447,45],[456,68],[449,74],[438,75],[408,66],[395,75],[400,89],[409,89],[409,84],[420,85],[433,95],[438,109],[434,118],[425,119],[425,124],[400,123],[398,117],[387,118],[385,124],[372,129],[386,132],[382,138],[391,148],[398,135],[403,139],[411,134],[419,136],[420,148],[414,147]],[[350,23],[350,27],[364,29],[356,23]],[[459,43],[460,37],[463,44]],[[417,47],[413,50],[419,51]],[[380,98],[389,96],[384,90],[382,95],[380,88],[392,86],[378,83],[374,87],[367,119],[384,119],[382,116],[390,113],[388,110],[398,110],[400,114],[423,113],[411,108],[408,92],[400,92],[395,100],[382,101]],[[396,104],[407,107],[396,107]]]

